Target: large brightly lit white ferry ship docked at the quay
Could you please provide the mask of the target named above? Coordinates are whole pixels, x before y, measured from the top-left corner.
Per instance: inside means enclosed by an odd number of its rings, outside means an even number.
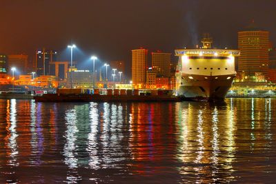
[[[176,94],[186,99],[224,99],[236,76],[235,57],[239,50],[212,49],[210,37],[202,48],[175,50],[179,57]]]

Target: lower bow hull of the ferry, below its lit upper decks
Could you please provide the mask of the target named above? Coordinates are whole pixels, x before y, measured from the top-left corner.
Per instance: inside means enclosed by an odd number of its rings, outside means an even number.
[[[190,76],[193,79],[190,79]],[[182,74],[177,95],[195,101],[224,100],[234,78],[235,74],[219,76]]]

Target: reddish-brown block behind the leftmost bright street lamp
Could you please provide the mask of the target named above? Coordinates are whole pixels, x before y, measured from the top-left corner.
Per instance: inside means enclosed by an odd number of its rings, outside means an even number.
[[[17,54],[8,55],[8,70],[12,67],[16,68],[17,72],[20,74],[26,73],[28,66],[28,55]]]

